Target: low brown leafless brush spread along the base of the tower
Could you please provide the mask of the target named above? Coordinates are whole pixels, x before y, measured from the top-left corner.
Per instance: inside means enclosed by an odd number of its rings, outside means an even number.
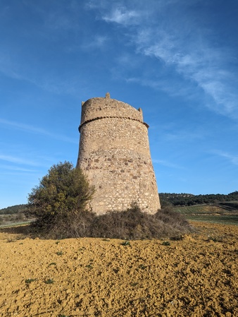
[[[142,213],[137,206],[122,212],[108,212],[97,216],[82,211],[75,217],[62,219],[51,227],[46,237],[105,237],[110,239],[160,239],[181,237],[191,231],[187,220],[170,209],[159,210],[155,215]]]

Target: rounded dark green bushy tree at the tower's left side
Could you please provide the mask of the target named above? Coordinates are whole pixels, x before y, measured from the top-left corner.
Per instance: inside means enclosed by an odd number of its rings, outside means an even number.
[[[86,209],[93,193],[81,169],[74,168],[70,162],[60,162],[32,189],[26,215],[35,218],[33,225],[38,231],[55,230],[61,235]]]

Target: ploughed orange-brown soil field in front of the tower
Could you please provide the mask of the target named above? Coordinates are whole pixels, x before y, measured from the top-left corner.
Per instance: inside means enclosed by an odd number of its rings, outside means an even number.
[[[1,229],[0,316],[238,316],[238,227],[195,226],[170,245]]]

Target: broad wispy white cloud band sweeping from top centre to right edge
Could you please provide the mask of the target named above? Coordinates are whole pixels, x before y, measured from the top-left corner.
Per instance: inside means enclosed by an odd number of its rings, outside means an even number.
[[[197,1],[192,1],[195,4]],[[134,52],[158,60],[158,69],[173,68],[187,83],[203,90],[206,106],[214,112],[238,118],[238,79],[231,67],[236,52],[230,47],[219,46],[219,33],[209,30],[196,19],[196,11],[189,10],[187,1],[152,1],[151,6],[142,2],[134,9],[125,1],[101,13],[106,23],[117,23],[127,28],[127,36],[134,45]],[[153,6],[153,7],[152,7]],[[105,6],[104,6],[105,10]],[[189,10],[189,15],[186,12]],[[194,14],[194,16],[193,16]],[[163,89],[156,76],[125,76],[154,89]],[[193,85],[193,89],[194,89]],[[165,90],[172,91],[165,83]],[[184,95],[184,91],[177,90]]]

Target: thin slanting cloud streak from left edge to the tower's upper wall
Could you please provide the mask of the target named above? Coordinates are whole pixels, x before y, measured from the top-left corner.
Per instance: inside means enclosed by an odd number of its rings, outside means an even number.
[[[15,128],[15,129],[18,129],[21,131],[41,134],[42,136],[49,136],[50,138],[55,138],[57,140],[62,140],[64,142],[68,142],[68,143],[75,143],[75,144],[78,143],[78,140],[75,140],[73,138],[68,138],[67,136],[62,136],[60,134],[51,133],[49,131],[44,130],[43,128],[36,128],[35,126],[21,124],[21,123],[15,122],[15,121],[8,121],[6,119],[1,119],[1,118],[0,118],[0,123],[4,124],[6,126],[11,126],[12,128]]]

